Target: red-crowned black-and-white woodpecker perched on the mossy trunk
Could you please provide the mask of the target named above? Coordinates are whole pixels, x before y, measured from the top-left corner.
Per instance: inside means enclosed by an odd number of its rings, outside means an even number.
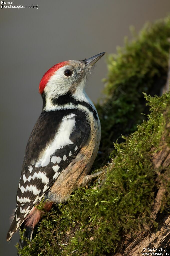
[[[7,241],[19,227],[26,229],[24,236],[31,241],[43,215],[43,210],[35,207],[41,200],[46,202],[44,210],[49,211],[101,173],[89,174],[98,153],[101,127],[84,87],[91,68],[104,54],[60,62],[41,79],[43,109],[25,150]],[[20,240],[19,248],[24,245]]]

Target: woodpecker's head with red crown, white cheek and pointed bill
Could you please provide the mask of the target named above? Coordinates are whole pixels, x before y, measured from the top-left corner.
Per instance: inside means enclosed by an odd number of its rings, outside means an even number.
[[[91,68],[104,54],[102,52],[89,59],[68,60],[54,65],[41,79],[39,92],[48,101],[68,93],[75,99],[81,98]]]

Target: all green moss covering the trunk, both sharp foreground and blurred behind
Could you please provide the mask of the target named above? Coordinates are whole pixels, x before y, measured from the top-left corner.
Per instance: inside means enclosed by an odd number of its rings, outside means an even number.
[[[100,116],[105,115],[105,119],[101,118],[103,150],[107,151],[107,145],[111,147],[122,133],[135,131],[143,118],[140,113],[145,110],[142,91],[149,92],[157,80],[159,86],[161,79],[165,81],[169,28],[169,18],[147,26],[117,57],[109,57],[106,92],[112,99],[111,109],[98,106]],[[126,94],[120,93],[120,85]],[[119,98],[116,104],[113,95]],[[155,184],[159,169],[153,168],[151,157],[160,148],[163,134],[166,137],[170,93],[145,97],[150,106],[148,120],[138,125],[133,134],[123,137],[124,143],[114,144],[111,154],[114,162],[104,166],[107,177],[102,187],[96,181],[88,188],[79,188],[67,204],[46,213],[36,228],[31,246],[22,250],[22,256],[72,255],[74,250],[82,256],[107,255],[115,251],[123,234],[153,223],[150,213],[154,193],[159,182],[166,184],[169,169],[159,175]],[[167,138],[166,142],[169,143]],[[109,153],[103,161],[108,157]],[[166,187],[162,210],[170,202],[170,191],[168,185]]]

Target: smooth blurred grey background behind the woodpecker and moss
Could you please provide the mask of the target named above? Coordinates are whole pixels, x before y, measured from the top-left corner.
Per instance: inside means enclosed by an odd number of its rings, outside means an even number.
[[[15,5],[38,4],[38,9],[0,10],[1,48],[1,218],[0,255],[15,255],[15,234],[6,233],[16,206],[24,150],[42,109],[38,83],[57,62],[84,59],[106,51],[115,52],[146,21],[164,17],[169,0],[70,0],[14,1]],[[106,58],[96,65],[87,83],[95,102],[102,95],[107,76]]]

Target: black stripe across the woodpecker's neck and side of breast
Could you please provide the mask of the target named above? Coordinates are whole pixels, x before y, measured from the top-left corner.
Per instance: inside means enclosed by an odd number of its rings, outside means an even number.
[[[53,105],[55,106],[62,106],[65,105],[67,103],[72,103],[73,105],[82,105],[86,108],[89,109],[89,111],[91,111],[95,117],[95,119],[97,120],[97,113],[95,111],[95,109],[91,106],[90,103],[87,103],[85,101],[79,101],[79,100],[75,100],[72,96],[70,92],[67,92],[66,94],[60,95],[58,98],[54,98],[51,100]]]

